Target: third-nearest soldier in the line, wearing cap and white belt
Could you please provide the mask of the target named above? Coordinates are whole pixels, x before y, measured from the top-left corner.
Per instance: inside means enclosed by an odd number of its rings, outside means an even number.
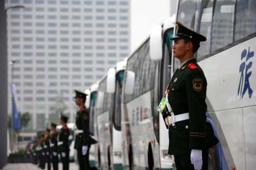
[[[69,128],[67,126],[68,117],[61,115],[59,123],[62,125],[59,134],[59,145],[60,159],[62,162],[63,170],[69,169]]]

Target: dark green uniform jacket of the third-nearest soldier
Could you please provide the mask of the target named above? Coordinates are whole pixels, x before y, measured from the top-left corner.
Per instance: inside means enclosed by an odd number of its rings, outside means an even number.
[[[59,145],[59,152],[68,152],[69,151],[69,128],[67,125],[63,126],[60,130],[59,141],[63,142]]]

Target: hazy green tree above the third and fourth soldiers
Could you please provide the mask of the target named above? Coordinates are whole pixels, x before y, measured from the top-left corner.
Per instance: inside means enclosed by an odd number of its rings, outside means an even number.
[[[60,114],[65,113],[67,109],[68,106],[63,101],[62,96],[57,96],[56,103],[50,106],[49,120],[53,123],[58,123]]]

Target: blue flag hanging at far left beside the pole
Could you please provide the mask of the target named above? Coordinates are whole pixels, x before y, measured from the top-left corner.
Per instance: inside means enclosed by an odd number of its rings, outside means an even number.
[[[16,107],[16,100],[15,100],[15,85],[11,85],[11,94],[12,94],[12,128],[13,129],[20,129],[20,119],[18,109]]]

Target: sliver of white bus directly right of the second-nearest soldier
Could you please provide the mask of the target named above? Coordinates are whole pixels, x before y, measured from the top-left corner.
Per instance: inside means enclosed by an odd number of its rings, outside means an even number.
[[[90,135],[96,139],[96,131],[94,129],[94,116],[95,116],[95,103],[97,99],[97,92],[98,92],[98,84],[93,84],[90,89],[86,90],[85,93],[88,94],[86,100],[86,107],[89,109],[90,113]],[[97,140],[97,139],[96,139]],[[95,157],[95,150],[97,149],[97,143],[91,145],[89,161],[91,168],[98,165],[97,158]]]

